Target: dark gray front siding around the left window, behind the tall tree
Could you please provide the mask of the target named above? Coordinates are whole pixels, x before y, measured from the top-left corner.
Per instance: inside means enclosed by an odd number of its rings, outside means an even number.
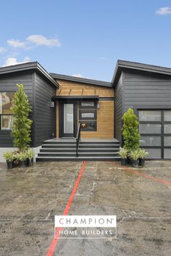
[[[1,75],[0,91],[17,91],[16,83],[22,83],[25,88],[25,93],[28,95],[30,104],[33,104],[33,72],[25,71],[22,73],[11,73]],[[31,117],[31,116],[30,116]],[[0,131],[0,147],[11,147],[12,139],[11,131]]]

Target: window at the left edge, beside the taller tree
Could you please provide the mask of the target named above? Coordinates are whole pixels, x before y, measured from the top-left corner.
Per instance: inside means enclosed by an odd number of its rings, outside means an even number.
[[[12,99],[14,92],[0,92],[0,130],[12,129]]]

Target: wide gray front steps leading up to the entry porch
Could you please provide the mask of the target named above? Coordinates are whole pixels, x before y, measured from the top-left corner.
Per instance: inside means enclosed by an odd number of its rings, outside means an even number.
[[[75,139],[51,139],[43,141],[36,162],[56,161],[118,161],[120,142],[111,140],[80,141],[76,157]]]

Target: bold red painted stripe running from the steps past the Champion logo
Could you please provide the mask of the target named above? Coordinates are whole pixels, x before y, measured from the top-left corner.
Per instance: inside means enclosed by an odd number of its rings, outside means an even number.
[[[69,212],[69,210],[70,210],[70,206],[72,205],[73,199],[74,199],[74,197],[75,197],[75,194],[76,194],[76,191],[77,191],[77,189],[78,189],[78,185],[79,185],[79,183],[80,183],[80,179],[81,179],[81,176],[82,176],[82,174],[83,174],[83,171],[84,171],[85,167],[86,167],[86,162],[83,162],[83,165],[82,165],[82,167],[81,167],[81,169],[80,169],[80,173],[79,173],[79,175],[78,175],[78,179],[77,179],[77,181],[75,182],[75,186],[74,186],[74,188],[73,188],[73,190],[72,190],[72,193],[71,193],[71,195],[70,195],[70,199],[69,199],[68,202],[67,202],[67,206],[66,206],[65,209],[64,209],[63,215],[67,215],[68,212]],[[58,240],[59,240],[60,231],[62,231],[62,228],[57,228],[56,236],[55,236],[54,239],[52,239],[51,244],[50,244],[50,246],[49,246],[49,249],[48,249],[48,251],[47,251],[47,253],[46,253],[46,256],[52,256],[52,255],[54,255],[54,251],[55,251],[55,249],[56,249],[56,247],[57,247],[57,243],[58,243]]]

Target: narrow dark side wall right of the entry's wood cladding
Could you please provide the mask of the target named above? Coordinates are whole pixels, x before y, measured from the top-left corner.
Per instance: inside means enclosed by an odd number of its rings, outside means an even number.
[[[114,137],[118,140],[122,140],[122,74],[117,82],[115,88],[115,104],[114,104]]]

